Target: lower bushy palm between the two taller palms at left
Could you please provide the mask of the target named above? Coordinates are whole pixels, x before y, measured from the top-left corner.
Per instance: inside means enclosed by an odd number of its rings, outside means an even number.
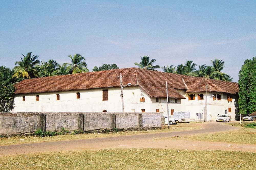
[[[55,76],[58,74],[59,64],[55,60],[49,59],[47,62],[43,62],[41,66],[39,66],[39,73],[40,77],[48,77],[48,76]]]

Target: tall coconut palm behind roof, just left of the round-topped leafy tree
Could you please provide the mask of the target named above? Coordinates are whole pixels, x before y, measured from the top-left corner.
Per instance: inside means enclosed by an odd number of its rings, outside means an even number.
[[[89,72],[87,69],[87,64],[85,62],[85,58],[80,54],[74,54],[73,56],[69,55],[71,58],[71,63],[64,63],[63,67],[67,67],[67,72],[70,74],[76,73],[85,73]]]

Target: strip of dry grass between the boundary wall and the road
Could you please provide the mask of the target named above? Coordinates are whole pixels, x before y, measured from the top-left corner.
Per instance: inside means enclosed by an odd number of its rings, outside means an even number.
[[[202,123],[179,123],[177,125],[170,125],[170,129],[156,129],[148,131],[121,131],[116,133],[96,133],[96,134],[73,134],[66,135],[55,135],[53,132],[47,132],[46,137],[37,136],[13,136],[9,138],[0,138],[0,145],[15,145],[22,143],[35,143],[35,142],[50,142],[50,141],[60,141],[60,140],[73,140],[73,139],[88,139],[88,138],[98,138],[98,137],[112,137],[112,136],[123,136],[123,135],[136,135],[136,134],[146,134],[146,133],[162,133],[162,132],[172,132],[172,131],[183,131],[183,130],[193,130],[201,128]],[[166,125],[167,127],[167,125]],[[76,134],[76,135],[74,135]],[[44,135],[43,132],[38,131],[38,136]]]

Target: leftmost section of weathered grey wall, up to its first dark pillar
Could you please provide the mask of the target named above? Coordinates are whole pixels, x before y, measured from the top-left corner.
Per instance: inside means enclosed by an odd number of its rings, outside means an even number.
[[[38,113],[0,113],[0,134],[28,133],[45,129],[45,115]]]

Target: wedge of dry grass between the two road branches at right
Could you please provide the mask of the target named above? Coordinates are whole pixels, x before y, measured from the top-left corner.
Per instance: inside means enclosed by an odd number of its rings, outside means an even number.
[[[238,129],[228,132],[216,132],[209,134],[189,135],[183,137],[160,138],[177,139],[177,140],[200,140],[211,142],[229,142],[229,143],[243,143],[243,144],[256,144],[256,129]],[[157,139],[155,139],[157,140]]]

